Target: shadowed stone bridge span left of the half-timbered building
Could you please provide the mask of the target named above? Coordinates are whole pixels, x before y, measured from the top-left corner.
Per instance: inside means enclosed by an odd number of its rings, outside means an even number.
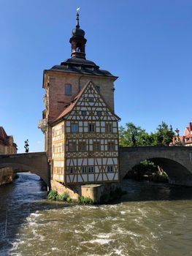
[[[24,154],[1,154],[0,171],[12,167],[15,173],[30,172],[37,174],[50,187],[50,165],[45,152]]]

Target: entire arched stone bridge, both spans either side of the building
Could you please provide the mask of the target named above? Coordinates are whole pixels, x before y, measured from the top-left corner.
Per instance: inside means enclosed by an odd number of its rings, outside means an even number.
[[[170,183],[192,186],[192,147],[126,147],[119,151],[121,180],[132,167],[148,159],[166,171]],[[0,171],[3,167],[37,174],[50,187],[50,165],[45,152],[0,155]]]

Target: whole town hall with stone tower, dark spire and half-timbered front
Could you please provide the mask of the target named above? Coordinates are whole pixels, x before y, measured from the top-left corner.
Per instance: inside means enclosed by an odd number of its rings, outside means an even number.
[[[45,110],[39,128],[45,134],[51,179],[65,186],[119,181],[117,77],[85,59],[84,36],[77,13],[69,40],[71,59],[43,75]]]

